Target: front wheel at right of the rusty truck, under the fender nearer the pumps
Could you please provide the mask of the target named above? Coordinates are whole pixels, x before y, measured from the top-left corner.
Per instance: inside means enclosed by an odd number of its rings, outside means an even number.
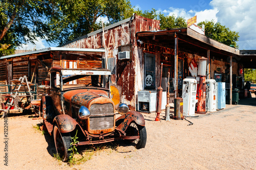
[[[125,131],[126,136],[137,136],[139,135],[139,139],[128,140],[130,142],[135,143],[135,147],[137,149],[145,148],[146,145],[146,127],[139,126],[132,122],[129,127]]]

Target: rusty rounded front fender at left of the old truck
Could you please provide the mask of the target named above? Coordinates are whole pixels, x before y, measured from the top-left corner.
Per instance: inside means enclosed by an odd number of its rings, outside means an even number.
[[[61,133],[68,133],[75,130],[78,123],[67,114],[60,114],[54,117],[53,124],[57,124]]]

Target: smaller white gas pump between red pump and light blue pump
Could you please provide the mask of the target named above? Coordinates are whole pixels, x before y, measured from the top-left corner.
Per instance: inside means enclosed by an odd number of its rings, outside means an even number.
[[[217,108],[217,83],[214,79],[206,80],[206,110],[214,112]]]

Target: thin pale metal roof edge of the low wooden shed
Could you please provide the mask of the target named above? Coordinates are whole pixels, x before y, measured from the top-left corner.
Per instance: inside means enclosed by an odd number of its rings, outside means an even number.
[[[44,48],[44,49],[40,49],[40,50],[36,50],[36,51],[13,54],[13,55],[9,55],[9,56],[2,56],[2,57],[0,57],[0,60],[6,59],[6,58],[17,57],[17,56],[25,56],[25,55],[30,55],[30,54],[50,52],[50,51],[99,52],[99,53],[105,52],[103,49],[92,49],[92,48],[49,47],[49,48]]]

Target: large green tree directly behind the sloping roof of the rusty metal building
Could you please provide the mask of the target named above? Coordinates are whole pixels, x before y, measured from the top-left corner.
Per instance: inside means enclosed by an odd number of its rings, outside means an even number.
[[[54,6],[58,12],[49,18],[53,36],[48,40],[59,44],[102,28],[99,17],[108,17],[111,25],[133,13],[128,0],[57,0]]]

